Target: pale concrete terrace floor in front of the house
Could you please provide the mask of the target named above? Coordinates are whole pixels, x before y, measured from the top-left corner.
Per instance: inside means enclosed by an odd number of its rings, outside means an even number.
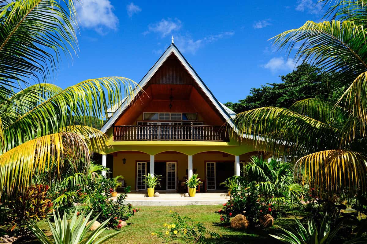
[[[120,194],[117,194],[119,196]],[[117,197],[113,197],[116,199]],[[187,197],[182,193],[160,193],[158,197],[148,197],[146,193],[129,193],[126,203],[133,206],[186,206],[186,205],[218,205],[229,199],[226,193],[196,193],[194,197]]]

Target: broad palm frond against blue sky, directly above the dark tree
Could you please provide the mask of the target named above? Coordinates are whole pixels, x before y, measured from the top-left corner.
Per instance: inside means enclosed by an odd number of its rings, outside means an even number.
[[[307,21],[271,39],[278,48],[288,48],[289,52],[299,45],[296,60],[304,59],[328,72],[342,69],[341,75],[348,83],[351,77],[367,70],[366,37],[362,25],[349,20],[332,20]]]

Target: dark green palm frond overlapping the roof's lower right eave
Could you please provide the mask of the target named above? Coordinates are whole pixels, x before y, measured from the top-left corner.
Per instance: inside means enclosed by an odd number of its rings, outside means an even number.
[[[329,124],[284,108],[248,110],[237,114],[233,121],[236,124],[233,136],[238,135],[240,140],[247,139],[267,151],[280,151],[288,146],[293,153],[305,155],[326,145],[334,149],[338,148],[343,134]]]

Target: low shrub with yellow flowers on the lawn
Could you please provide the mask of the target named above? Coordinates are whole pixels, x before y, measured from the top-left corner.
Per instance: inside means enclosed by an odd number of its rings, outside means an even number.
[[[184,240],[185,243],[205,243],[208,236],[222,237],[220,234],[210,232],[202,223],[194,222],[188,217],[181,217],[176,212],[172,213],[172,218],[172,224],[163,224],[166,228],[164,233],[156,232],[152,233],[152,236],[156,235],[163,239],[163,243],[175,243],[177,239]]]

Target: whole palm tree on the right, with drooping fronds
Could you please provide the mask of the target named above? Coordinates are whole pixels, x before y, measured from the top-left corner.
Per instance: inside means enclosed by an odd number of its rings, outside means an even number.
[[[337,85],[347,87],[337,102],[305,99],[289,109],[252,109],[235,118],[241,138],[254,136],[260,147],[300,157],[295,177],[319,192],[366,191],[366,11],[367,1],[339,1],[327,15],[340,20],[307,21],[272,38],[289,52],[298,46],[296,60],[337,73],[343,80]]]

